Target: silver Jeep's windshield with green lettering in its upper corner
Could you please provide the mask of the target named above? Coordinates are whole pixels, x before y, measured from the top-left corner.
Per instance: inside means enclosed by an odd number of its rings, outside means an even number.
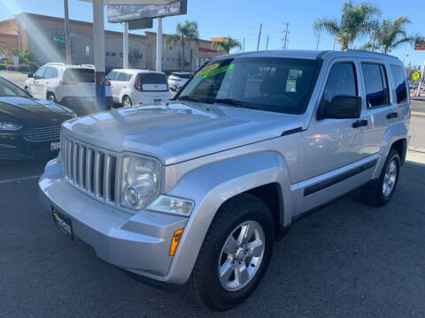
[[[318,65],[318,60],[282,57],[215,60],[195,74],[177,99],[302,114]]]

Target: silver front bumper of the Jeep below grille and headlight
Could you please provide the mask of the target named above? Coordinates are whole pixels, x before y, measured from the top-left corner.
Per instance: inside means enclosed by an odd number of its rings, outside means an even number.
[[[39,180],[42,208],[51,213],[53,205],[71,218],[73,234],[104,261],[165,281],[173,261],[168,255],[173,233],[188,219],[145,210],[131,215],[96,201],[64,180],[60,166],[50,161]]]

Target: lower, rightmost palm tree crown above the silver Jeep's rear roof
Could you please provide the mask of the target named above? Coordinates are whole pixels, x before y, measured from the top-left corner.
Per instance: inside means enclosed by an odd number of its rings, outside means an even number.
[[[411,45],[419,38],[419,35],[408,35],[406,33],[406,25],[410,20],[406,17],[400,17],[395,20],[384,19],[375,29],[375,42],[368,42],[361,49],[380,49],[384,54],[390,53],[391,50],[397,49],[406,43]]]

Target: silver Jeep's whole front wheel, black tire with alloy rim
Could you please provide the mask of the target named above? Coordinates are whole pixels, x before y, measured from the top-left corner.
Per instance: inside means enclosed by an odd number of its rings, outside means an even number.
[[[253,233],[251,239],[245,241],[251,244],[248,243],[243,248],[238,246],[237,240],[248,228],[253,230]],[[233,242],[230,236],[236,239],[236,246],[230,244]],[[261,238],[264,240],[259,246]],[[255,250],[252,247],[254,243],[257,246]],[[273,245],[274,220],[266,203],[250,194],[241,194],[225,202],[205,235],[195,267],[186,284],[191,296],[201,305],[214,311],[227,310],[242,303],[254,292],[264,276],[272,256]],[[234,257],[226,253],[230,246],[237,248],[237,254],[236,250],[232,249]],[[251,256],[254,251],[259,256]],[[254,263],[255,265],[252,265]],[[219,270],[227,265],[231,265],[229,272],[232,274],[227,276],[227,279],[222,278],[220,282]],[[235,269],[247,274],[245,279],[239,276],[243,284],[238,285]],[[251,276],[248,269],[251,269]]]

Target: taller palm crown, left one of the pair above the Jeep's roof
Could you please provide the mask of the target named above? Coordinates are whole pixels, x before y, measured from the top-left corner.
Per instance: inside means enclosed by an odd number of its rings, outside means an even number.
[[[341,49],[348,49],[359,36],[368,34],[372,27],[376,25],[375,16],[379,14],[379,9],[373,4],[361,3],[354,6],[352,1],[343,5],[341,20],[317,19],[313,24],[315,31],[325,31],[334,35],[337,42],[341,44]]]

